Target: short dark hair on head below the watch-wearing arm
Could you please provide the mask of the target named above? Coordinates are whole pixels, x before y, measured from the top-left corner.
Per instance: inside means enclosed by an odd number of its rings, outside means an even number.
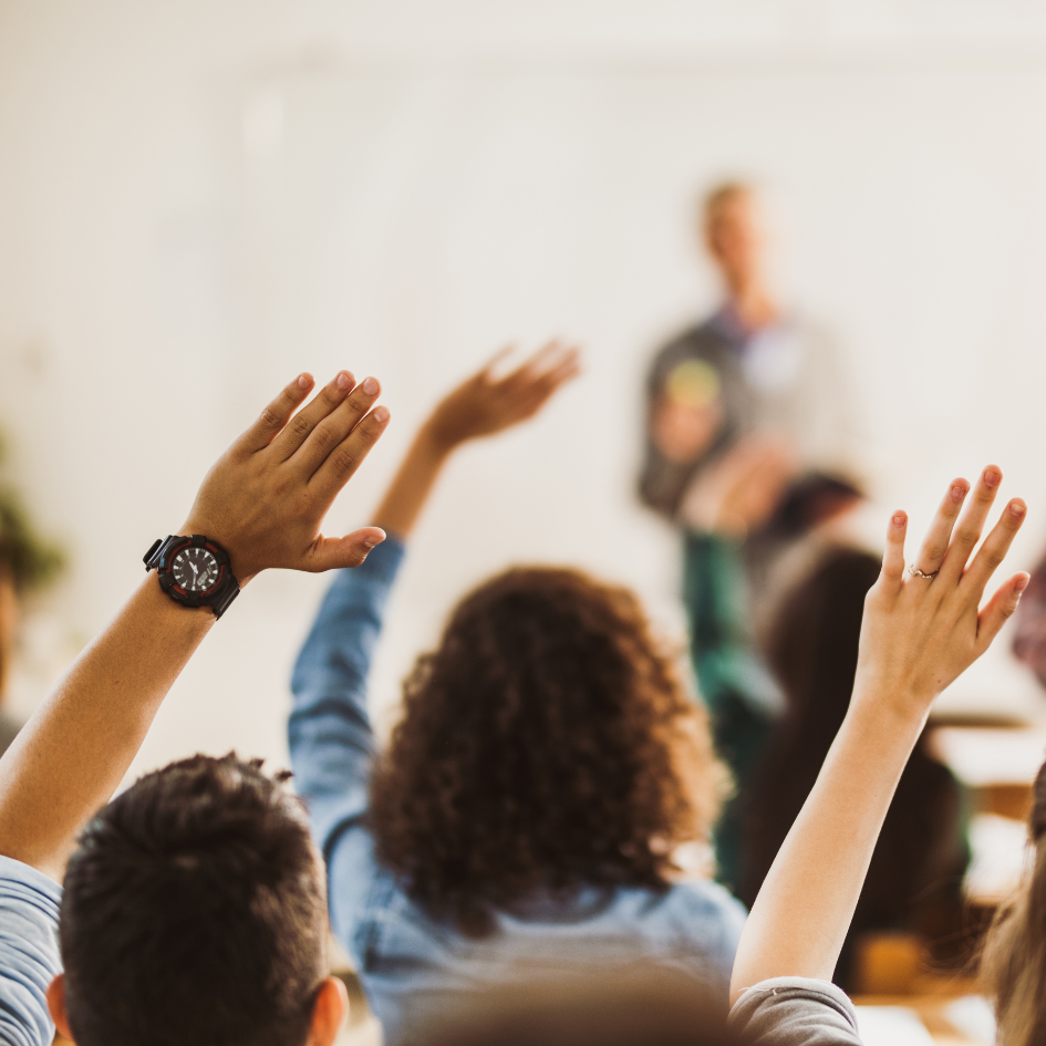
[[[80,837],[60,919],[77,1046],[301,1046],[324,975],[322,866],[261,760],[148,774]]]

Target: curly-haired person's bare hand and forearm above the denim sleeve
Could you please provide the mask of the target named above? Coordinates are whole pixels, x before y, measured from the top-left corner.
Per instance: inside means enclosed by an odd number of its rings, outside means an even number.
[[[437,404],[374,512],[375,526],[408,537],[443,466],[457,447],[534,417],[560,385],[578,374],[578,351],[555,341],[505,377],[496,377],[501,355]]]

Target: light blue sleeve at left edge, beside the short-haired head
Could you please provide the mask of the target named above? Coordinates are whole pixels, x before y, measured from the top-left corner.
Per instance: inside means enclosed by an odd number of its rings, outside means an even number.
[[[62,971],[62,889],[42,872],[0,857],[0,1044],[50,1046],[48,985]]]

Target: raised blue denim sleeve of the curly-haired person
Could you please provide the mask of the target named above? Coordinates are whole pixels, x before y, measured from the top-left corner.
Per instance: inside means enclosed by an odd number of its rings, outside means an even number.
[[[405,548],[389,536],[364,563],[341,570],[298,655],[288,734],[294,786],[309,805],[312,832],[330,872],[334,929],[352,936],[373,874],[363,819],[374,755],[366,681],[382,618]],[[336,858],[336,860],[335,860]]]

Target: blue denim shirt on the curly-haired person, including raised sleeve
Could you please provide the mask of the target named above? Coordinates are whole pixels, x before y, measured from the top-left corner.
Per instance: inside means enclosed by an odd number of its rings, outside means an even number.
[[[289,724],[294,783],[327,862],[331,924],[387,1046],[420,1036],[426,1012],[485,984],[593,962],[672,965],[721,985],[725,1007],[745,910],[715,883],[536,895],[474,939],[429,918],[379,863],[366,822],[375,750],[366,680],[403,555],[389,537],[362,567],[339,572],[294,667]]]

